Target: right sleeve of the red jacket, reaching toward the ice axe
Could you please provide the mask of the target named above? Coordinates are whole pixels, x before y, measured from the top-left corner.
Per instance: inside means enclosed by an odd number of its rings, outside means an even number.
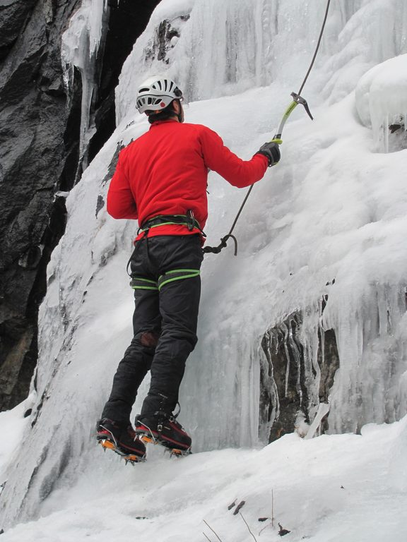
[[[228,147],[216,132],[206,126],[201,133],[201,147],[206,167],[223,176],[228,183],[244,188],[259,181],[269,165],[264,155],[254,155],[250,160],[242,160]]]

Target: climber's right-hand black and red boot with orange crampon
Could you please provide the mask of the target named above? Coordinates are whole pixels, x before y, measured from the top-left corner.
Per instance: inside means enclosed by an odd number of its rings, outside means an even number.
[[[136,417],[135,432],[143,442],[165,446],[175,455],[191,453],[191,437],[174,416]]]

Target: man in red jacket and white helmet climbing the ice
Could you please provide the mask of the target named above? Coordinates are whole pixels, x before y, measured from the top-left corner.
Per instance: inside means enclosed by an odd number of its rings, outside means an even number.
[[[276,143],[265,143],[248,161],[240,159],[206,126],[184,124],[181,102],[182,92],[166,77],[141,85],[137,109],[151,127],[120,152],[107,193],[107,212],[138,219],[141,233],[129,262],[134,338],[114,375],[97,439],[131,461],[145,457],[144,442],[182,454],[191,448],[174,411],[197,341],[208,170],[244,188],[280,159]],[[131,408],[148,371],[150,390],[134,430]]]

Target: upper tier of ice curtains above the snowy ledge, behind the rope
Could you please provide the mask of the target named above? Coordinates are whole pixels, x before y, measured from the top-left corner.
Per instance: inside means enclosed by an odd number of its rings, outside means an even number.
[[[161,1],[124,64],[118,121],[134,114],[134,92],[151,73],[175,78],[189,100],[234,95],[275,81],[280,92],[297,91],[325,8],[325,0]],[[163,20],[177,32],[165,58],[158,54]],[[403,0],[331,2],[317,58],[324,73],[314,71],[307,92],[314,87],[331,100],[346,96],[368,68],[407,52],[406,32]]]

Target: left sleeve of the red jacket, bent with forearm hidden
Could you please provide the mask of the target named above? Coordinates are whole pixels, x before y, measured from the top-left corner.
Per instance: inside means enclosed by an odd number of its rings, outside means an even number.
[[[124,150],[119,154],[116,171],[107,191],[107,212],[113,218],[136,219],[137,206],[130,189]]]

